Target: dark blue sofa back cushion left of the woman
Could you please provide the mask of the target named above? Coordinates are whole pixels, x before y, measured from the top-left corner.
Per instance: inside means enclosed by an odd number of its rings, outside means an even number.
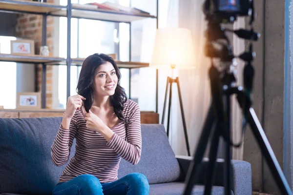
[[[66,165],[56,167],[51,160],[61,121],[62,117],[0,118],[0,192],[51,194]],[[73,145],[70,158],[74,153]]]

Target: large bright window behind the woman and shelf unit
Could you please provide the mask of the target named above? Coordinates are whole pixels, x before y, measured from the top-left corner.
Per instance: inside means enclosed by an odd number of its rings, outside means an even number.
[[[106,0],[74,0],[72,3],[103,3]],[[121,5],[142,9],[156,15],[156,0],[108,0]],[[62,5],[67,0],[60,0]],[[119,33],[118,33],[119,30]],[[129,59],[130,32],[128,23],[99,20],[71,19],[71,58],[86,58],[93,53],[113,54],[119,51],[119,60],[149,62],[155,38],[156,19],[144,19],[131,23],[131,59]],[[66,58],[67,19],[60,18],[60,57]],[[117,46],[119,45],[119,48]],[[129,97],[129,70],[121,68],[121,86]],[[70,95],[76,94],[80,67],[72,66]],[[131,98],[138,101],[141,110],[155,110],[156,71],[152,68],[131,71]],[[59,67],[59,101],[66,107],[66,66]]]

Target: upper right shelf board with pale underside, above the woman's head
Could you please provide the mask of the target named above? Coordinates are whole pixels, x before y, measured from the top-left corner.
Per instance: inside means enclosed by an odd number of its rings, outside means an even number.
[[[51,12],[52,16],[66,17],[66,9]],[[122,11],[112,11],[104,9],[82,8],[80,5],[72,4],[72,18],[104,20],[116,22],[131,22],[134,20],[142,20],[145,18],[156,18],[149,14],[134,14]]]

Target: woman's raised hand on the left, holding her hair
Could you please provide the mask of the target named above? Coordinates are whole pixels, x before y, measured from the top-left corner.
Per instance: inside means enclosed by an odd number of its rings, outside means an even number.
[[[74,116],[76,110],[82,107],[84,100],[85,98],[81,95],[68,97],[64,117],[71,119]]]

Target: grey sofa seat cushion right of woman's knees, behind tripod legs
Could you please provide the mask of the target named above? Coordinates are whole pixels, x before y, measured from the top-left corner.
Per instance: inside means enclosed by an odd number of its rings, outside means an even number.
[[[149,195],[182,195],[184,189],[184,182],[152,184],[149,186]],[[203,195],[204,189],[203,185],[195,185],[191,195]],[[224,195],[224,187],[213,186],[211,195]],[[233,191],[231,191],[231,195],[234,195]]]

